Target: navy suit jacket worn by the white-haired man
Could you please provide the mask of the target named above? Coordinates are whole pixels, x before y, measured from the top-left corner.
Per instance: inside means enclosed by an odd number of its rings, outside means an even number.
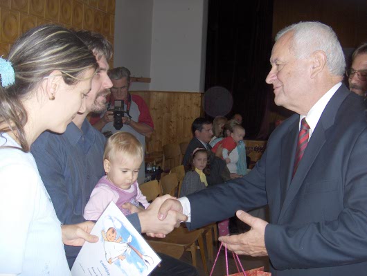
[[[292,179],[299,116],[277,127],[251,172],[190,194],[198,228],[269,204],[273,276],[367,275],[367,123],[342,85],[325,107]],[[205,206],[205,208],[202,208]]]

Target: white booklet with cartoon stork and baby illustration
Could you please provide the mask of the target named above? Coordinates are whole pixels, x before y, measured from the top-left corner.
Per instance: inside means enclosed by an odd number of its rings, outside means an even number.
[[[97,243],[84,243],[71,275],[148,275],[161,262],[125,215],[111,202],[91,234]]]

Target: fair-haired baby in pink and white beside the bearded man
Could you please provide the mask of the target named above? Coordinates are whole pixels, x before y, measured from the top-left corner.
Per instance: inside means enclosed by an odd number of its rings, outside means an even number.
[[[107,140],[103,154],[103,167],[107,175],[102,176],[94,187],[85,206],[85,219],[99,219],[111,201],[125,215],[130,212],[123,208],[124,203],[132,203],[137,207],[141,203],[144,208],[149,206],[136,181],[143,158],[143,146],[132,134],[120,131]]]

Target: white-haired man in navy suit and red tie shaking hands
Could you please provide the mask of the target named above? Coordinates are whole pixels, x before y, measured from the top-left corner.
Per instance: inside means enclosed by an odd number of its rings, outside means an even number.
[[[275,129],[249,174],[165,201],[159,217],[181,211],[193,229],[238,210],[251,230],[221,241],[238,254],[269,255],[272,275],[366,275],[367,123],[361,97],[341,84],[337,36],[319,22],[289,26],[270,63],[276,104],[297,114]],[[265,204],[270,223],[244,212]]]

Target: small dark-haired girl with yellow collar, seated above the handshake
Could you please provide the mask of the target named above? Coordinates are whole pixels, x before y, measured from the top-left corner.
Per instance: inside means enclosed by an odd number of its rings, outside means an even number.
[[[183,178],[180,196],[187,196],[204,190],[208,183],[206,175],[210,174],[208,151],[204,147],[197,147],[190,156],[189,170]]]

